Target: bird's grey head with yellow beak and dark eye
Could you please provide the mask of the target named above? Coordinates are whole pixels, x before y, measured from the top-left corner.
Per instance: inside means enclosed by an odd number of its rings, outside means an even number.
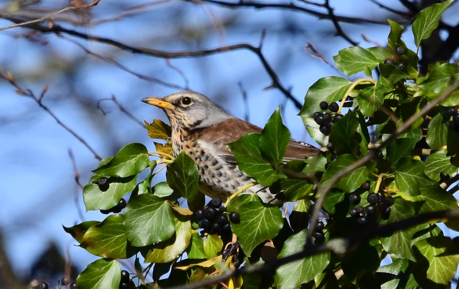
[[[142,102],[164,110],[173,129],[206,128],[231,118],[207,96],[194,91],[181,91],[163,98],[144,98]]]

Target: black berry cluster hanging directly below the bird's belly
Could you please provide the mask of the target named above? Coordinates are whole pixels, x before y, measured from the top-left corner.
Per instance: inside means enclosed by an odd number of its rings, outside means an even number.
[[[222,199],[213,198],[206,207],[196,211],[196,219],[199,227],[209,234],[228,234],[231,232],[231,225],[228,217],[224,212],[226,208],[222,206]],[[229,214],[231,222],[237,224],[240,222],[239,213],[231,212]]]

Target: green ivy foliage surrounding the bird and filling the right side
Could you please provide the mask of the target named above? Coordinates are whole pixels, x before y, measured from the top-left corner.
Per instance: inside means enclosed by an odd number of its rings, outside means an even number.
[[[419,13],[412,25],[417,48],[438,26],[451,3],[435,4]],[[80,247],[101,257],[79,274],[78,289],[118,288],[121,267],[117,260],[132,256],[136,271],[131,272],[129,288],[145,284],[146,274],[154,279],[149,285],[168,287],[303,251],[308,230],[314,230],[308,228],[308,222],[312,204],[318,202],[317,188],[329,184],[336,174],[380,146],[406,120],[459,80],[456,63],[432,64],[426,75],[420,75],[417,52],[401,40],[403,27],[393,21],[389,25],[387,47],[349,47],[334,57],[336,67],[345,75],[364,72],[366,78],[351,82],[327,76],[306,93],[299,115],[314,141],[324,147],[322,155],[305,162],[282,162],[290,132],[282,123],[280,109],[260,134],[248,134],[227,144],[245,174],[272,192],[279,192],[277,198],[281,201],[295,202],[290,206],[292,210],[285,212],[256,195],[223,200],[227,212],[240,214],[240,222],[231,222],[233,240],[199,229],[194,212],[205,203],[199,192],[198,169],[185,153],[171,157],[171,130],[162,121],[146,123],[152,138],[165,141],[155,143],[156,153],[149,154],[144,145],[132,143],[112,158],[103,159],[84,186],[86,210],[108,210],[122,197],[129,199],[123,213],[109,215],[102,222],[64,227]],[[378,77],[374,78],[375,69]],[[324,112],[319,108],[322,101],[338,102],[338,113],[344,114],[331,127],[329,136],[319,131],[313,118],[315,112]],[[452,195],[457,190],[446,190],[459,166],[459,134],[450,125],[451,108],[457,113],[457,89],[382,147],[375,158],[332,183],[322,206],[326,215],[322,218],[324,240],[312,234],[312,245],[336,244],[336,240],[350,240],[365,230],[419,214],[458,209]],[[332,151],[325,149],[329,142]],[[159,156],[159,160],[151,160],[152,155]],[[325,169],[326,163],[329,165]],[[162,166],[167,166],[167,182],[152,185]],[[101,178],[107,178],[108,186],[98,185]],[[351,214],[359,206],[368,206],[370,193],[392,197],[391,213],[382,218],[379,212],[372,224],[358,224]],[[351,194],[360,197],[358,204],[350,202]],[[180,206],[183,200],[188,206]],[[459,229],[453,219],[442,221],[449,229]],[[225,284],[231,289],[448,288],[459,264],[459,240],[445,236],[437,224],[416,224],[362,240],[358,246],[349,244],[341,251],[324,251],[287,262],[270,272],[231,277]],[[224,246],[236,240],[240,248],[233,252],[235,256],[223,256]],[[381,266],[386,256],[392,263]],[[161,279],[164,274],[167,277]],[[215,286],[221,288],[218,283]]]

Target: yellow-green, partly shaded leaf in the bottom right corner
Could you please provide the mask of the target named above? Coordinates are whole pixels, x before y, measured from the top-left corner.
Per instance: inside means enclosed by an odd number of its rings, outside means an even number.
[[[416,242],[413,249],[417,261],[414,277],[423,288],[447,285],[454,277],[459,251],[453,240],[444,236],[429,237]]]

